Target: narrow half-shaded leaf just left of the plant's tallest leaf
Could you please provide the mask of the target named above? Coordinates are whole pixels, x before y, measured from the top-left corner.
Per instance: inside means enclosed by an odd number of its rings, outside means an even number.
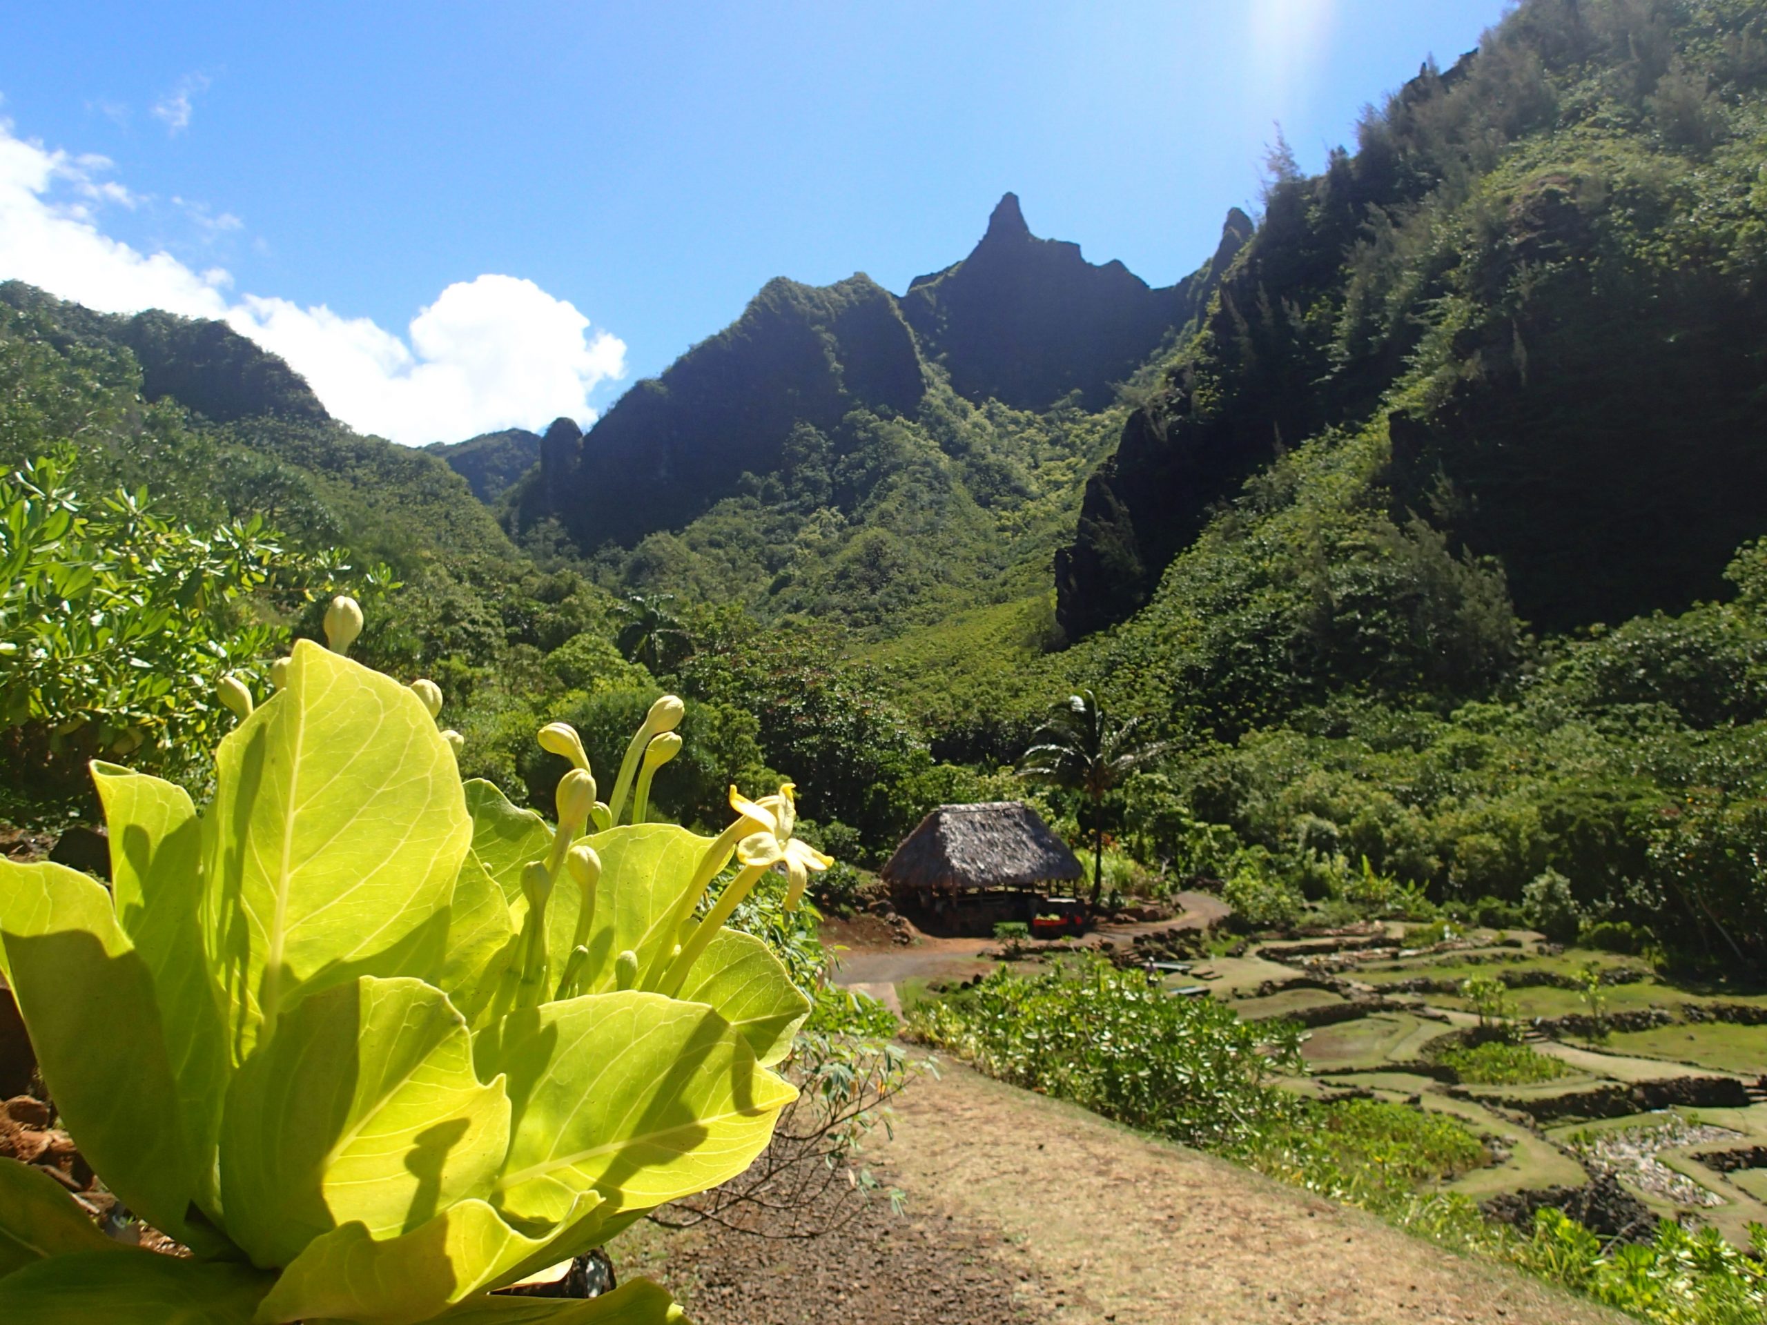
[[[113,763],[94,763],[92,779],[110,829],[117,919],[154,977],[198,1201],[216,1215],[214,1154],[231,1064],[203,947],[196,809],[182,786]]]

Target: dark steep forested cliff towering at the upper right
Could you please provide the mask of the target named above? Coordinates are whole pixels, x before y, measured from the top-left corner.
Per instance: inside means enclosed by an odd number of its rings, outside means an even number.
[[[1067,631],[1147,602],[1214,504],[1329,429],[1382,433],[1394,519],[1500,558],[1536,625],[1719,592],[1767,491],[1762,18],[1532,0],[1323,175],[1279,157],[1202,334],[1087,488]]]

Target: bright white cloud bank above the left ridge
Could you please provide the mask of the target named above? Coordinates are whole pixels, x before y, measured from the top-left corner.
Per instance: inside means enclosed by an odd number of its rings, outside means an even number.
[[[221,267],[191,270],[143,254],[99,228],[99,208],[134,194],[99,175],[102,157],[71,157],[0,120],[0,279],[18,277],[106,313],[161,307],[224,318],[283,355],[337,419],[394,442],[456,442],[558,415],[595,419],[590,392],[626,376],[626,344],[532,281],[479,276],[447,286],[410,323],[408,341],[323,304],[228,297]],[[71,198],[67,196],[71,194]],[[171,200],[205,235],[237,230],[230,212]]]

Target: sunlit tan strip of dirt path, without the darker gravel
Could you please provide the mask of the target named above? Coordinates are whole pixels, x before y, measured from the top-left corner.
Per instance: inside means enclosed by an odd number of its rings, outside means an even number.
[[[963,1067],[903,1102],[894,1180],[998,1223],[1064,1321],[1511,1321],[1617,1318],[1451,1256],[1354,1210]]]

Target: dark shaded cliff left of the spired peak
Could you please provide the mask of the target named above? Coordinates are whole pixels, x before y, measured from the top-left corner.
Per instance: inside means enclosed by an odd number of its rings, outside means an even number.
[[[557,516],[581,548],[679,528],[742,473],[770,473],[797,424],[853,408],[910,413],[926,390],[896,300],[868,276],[770,281],[728,329],[640,382],[588,431],[553,424],[523,519]],[[569,420],[560,420],[567,424]]]

